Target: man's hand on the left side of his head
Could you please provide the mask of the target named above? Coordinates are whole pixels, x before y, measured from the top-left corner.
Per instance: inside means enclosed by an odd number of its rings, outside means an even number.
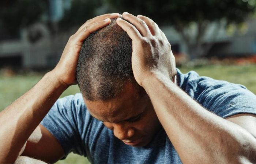
[[[70,36],[63,54],[57,66],[53,69],[54,74],[62,85],[69,86],[76,84],[76,65],[78,56],[84,40],[94,31],[105,27],[110,19],[118,17],[118,13],[104,14],[87,20],[78,31]]]

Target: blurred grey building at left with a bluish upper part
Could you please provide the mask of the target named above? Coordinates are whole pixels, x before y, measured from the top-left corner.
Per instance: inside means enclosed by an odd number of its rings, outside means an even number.
[[[15,37],[0,36],[0,66],[40,69],[56,65],[72,31],[53,35],[47,23],[57,23],[71,7],[71,0],[48,2],[42,21],[21,29]]]

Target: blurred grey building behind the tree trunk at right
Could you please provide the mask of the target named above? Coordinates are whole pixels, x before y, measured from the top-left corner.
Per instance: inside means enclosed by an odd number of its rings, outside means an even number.
[[[204,37],[204,44],[210,45],[206,56],[249,56],[256,54],[256,19],[248,20],[246,29],[242,32],[236,30],[227,34],[224,27],[212,24]],[[217,29],[217,30],[216,30]],[[172,27],[163,28],[163,32],[172,44],[176,53],[186,53],[187,47],[180,35]]]

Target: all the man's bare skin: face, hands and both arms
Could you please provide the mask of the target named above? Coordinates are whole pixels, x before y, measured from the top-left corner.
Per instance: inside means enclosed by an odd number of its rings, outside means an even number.
[[[35,128],[60,94],[76,83],[75,68],[83,40],[110,22],[104,19],[117,16],[107,14],[87,21],[69,39],[56,68],[0,113],[0,163],[14,163],[23,145],[22,155],[47,163],[64,155],[48,130],[42,125]],[[256,163],[255,115],[223,119],[197,104],[175,84],[175,59],[157,24],[145,16],[123,13],[123,17],[134,24],[117,20],[132,39],[133,74],[147,94],[138,97],[128,82],[117,98],[85,99],[91,114],[104,121],[116,137],[137,147],[150,142],[162,125],[182,163]],[[140,112],[143,114],[137,119]]]

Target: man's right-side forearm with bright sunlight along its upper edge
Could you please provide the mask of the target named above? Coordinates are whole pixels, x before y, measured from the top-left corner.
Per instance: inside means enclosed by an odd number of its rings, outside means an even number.
[[[237,163],[255,155],[249,132],[204,109],[169,78],[154,75],[143,87],[183,163]]]

